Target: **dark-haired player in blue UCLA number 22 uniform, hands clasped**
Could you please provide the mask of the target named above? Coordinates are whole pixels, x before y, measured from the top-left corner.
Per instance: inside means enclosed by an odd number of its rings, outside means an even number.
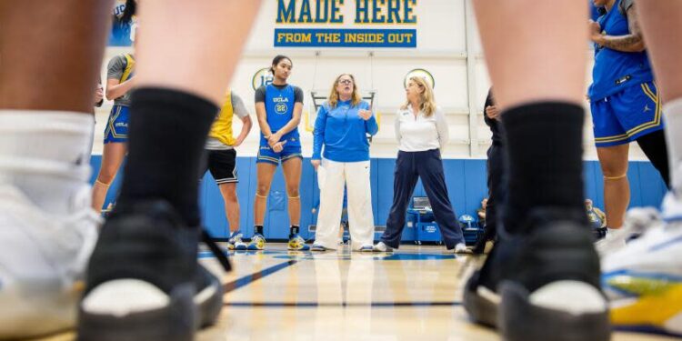
[[[289,250],[308,250],[306,241],[298,235],[301,218],[299,186],[301,182],[301,140],[298,124],[303,110],[303,91],[289,85],[293,64],[286,55],[277,55],[270,65],[273,82],[256,90],[256,115],[260,125],[261,138],[256,158],[256,199],[254,200],[254,236],[248,245],[250,250],[266,247],[263,235],[263,221],[266,215],[267,195],[277,165],[282,163],[288,198]]]

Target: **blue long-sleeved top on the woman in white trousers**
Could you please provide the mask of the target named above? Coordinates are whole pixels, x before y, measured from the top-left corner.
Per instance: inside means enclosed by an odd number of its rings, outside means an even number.
[[[369,141],[366,134],[375,135],[379,130],[373,114],[368,120],[358,115],[361,109],[369,110],[369,104],[361,101],[351,106],[350,101],[339,101],[332,108],[328,103],[320,106],[313,132],[313,159],[323,154],[336,162],[359,162],[369,160]]]

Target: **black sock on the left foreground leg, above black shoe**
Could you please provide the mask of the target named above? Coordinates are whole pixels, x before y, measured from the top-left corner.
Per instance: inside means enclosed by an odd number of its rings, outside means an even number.
[[[135,90],[129,123],[128,160],[117,206],[164,199],[188,226],[200,223],[199,166],[218,107],[182,91]],[[125,210],[125,208],[122,208]]]

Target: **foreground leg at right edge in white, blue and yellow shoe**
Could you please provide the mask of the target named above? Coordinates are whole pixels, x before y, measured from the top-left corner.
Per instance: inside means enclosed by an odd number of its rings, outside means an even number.
[[[660,86],[671,191],[663,204],[666,223],[652,226],[647,234],[607,256],[602,261],[602,279],[607,295],[615,302],[611,318],[616,326],[682,336],[682,42],[679,35],[671,34],[682,30],[682,2],[637,1],[636,6]],[[644,290],[635,290],[628,283],[638,283]]]

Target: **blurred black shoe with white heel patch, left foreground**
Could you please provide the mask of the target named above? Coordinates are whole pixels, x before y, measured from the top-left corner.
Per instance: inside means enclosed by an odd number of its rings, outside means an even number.
[[[212,324],[222,286],[197,264],[199,231],[165,201],[119,204],[90,259],[78,339],[189,341]]]

